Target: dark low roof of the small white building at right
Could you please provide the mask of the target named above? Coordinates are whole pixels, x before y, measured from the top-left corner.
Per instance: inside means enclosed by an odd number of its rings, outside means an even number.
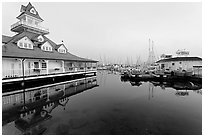
[[[168,59],[161,59],[161,60],[157,61],[156,63],[170,62],[170,61],[202,61],[202,58],[199,58],[199,57],[174,57],[174,58],[168,58]]]

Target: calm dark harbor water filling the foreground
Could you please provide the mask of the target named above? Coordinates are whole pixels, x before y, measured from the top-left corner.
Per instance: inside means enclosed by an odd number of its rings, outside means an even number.
[[[106,71],[2,101],[3,134],[202,134],[202,89],[130,83]]]

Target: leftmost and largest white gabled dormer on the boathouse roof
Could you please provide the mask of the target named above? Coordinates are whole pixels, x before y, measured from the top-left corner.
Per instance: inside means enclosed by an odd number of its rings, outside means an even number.
[[[17,42],[19,48],[33,49],[33,42],[28,37],[23,37]]]

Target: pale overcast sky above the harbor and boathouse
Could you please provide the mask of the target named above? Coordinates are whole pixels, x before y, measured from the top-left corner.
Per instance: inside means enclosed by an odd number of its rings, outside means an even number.
[[[21,5],[2,3],[2,34],[13,36]],[[179,49],[202,57],[202,4],[196,2],[32,2],[47,35],[80,57],[105,63],[147,61],[149,38],[157,59]]]

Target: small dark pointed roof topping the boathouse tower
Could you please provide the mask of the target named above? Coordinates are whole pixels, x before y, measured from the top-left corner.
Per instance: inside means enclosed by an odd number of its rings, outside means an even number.
[[[40,15],[38,14],[38,12],[36,11],[36,14],[32,14],[31,12],[30,12],[30,10],[32,9],[32,8],[34,8],[33,6],[32,6],[32,4],[29,2],[28,3],[28,5],[27,6],[24,6],[24,5],[21,5],[21,14],[18,16],[18,17],[16,17],[17,19],[20,19],[20,17],[23,15],[23,14],[27,14],[27,15],[30,15],[30,16],[32,16],[32,17],[34,17],[34,18],[37,18],[37,19],[40,19],[41,21],[43,21],[43,19],[40,17]],[[34,8],[35,9],[35,8]]]

